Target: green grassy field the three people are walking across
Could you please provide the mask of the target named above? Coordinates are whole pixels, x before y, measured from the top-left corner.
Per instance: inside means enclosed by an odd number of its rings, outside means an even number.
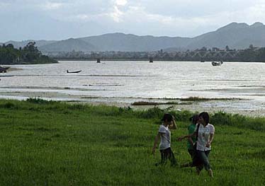
[[[209,178],[205,170],[154,166],[164,112],[176,117],[171,148],[186,163],[186,141],[176,138],[186,134],[191,112],[0,100],[0,185],[265,185],[264,118],[211,115]]]

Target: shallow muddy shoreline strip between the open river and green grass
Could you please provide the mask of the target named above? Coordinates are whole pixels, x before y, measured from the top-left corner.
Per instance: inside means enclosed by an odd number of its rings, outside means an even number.
[[[189,110],[191,112],[227,112],[233,115],[247,115],[250,117],[265,117],[265,107],[262,103],[257,105],[253,100],[247,99],[210,99],[188,100],[167,98],[119,98],[119,97],[96,97],[84,95],[69,95],[58,92],[1,92],[0,99],[26,100],[27,98],[40,98],[43,100],[55,100],[66,103],[109,105],[115,107],[131,107],[135,110],[147,110],[159,107],[165,110]],[[134,103],[147,103],[137,105]]]

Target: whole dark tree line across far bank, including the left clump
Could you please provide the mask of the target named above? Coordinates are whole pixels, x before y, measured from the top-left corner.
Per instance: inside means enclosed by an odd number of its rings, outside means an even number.
[[[12,44],[0,45],[0,64],[46,64],[56,63],[55,59],[78,60],[154,60],[154,61],[225,61],[225,62],[265,62],[265,47],[249,45],[244,50],[230,50],[202,47],[197,50],[154,51],[154,52],[47,52],[43,55],[35,42],[28,42],[25,47],[14,48]]]

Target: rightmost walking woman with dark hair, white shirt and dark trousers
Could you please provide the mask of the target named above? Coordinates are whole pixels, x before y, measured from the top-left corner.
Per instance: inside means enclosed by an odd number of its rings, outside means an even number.
[[[208,171],[208,175],[210,177],[213,177],[213,170],[210,166],[209,162],[209,155],[211,150],[211,144],[213,143],[213,136],[215,134],[215,127],[213,124],[209,124],[209,114],[208,112],[201,112],[200,115],[198,115],[198,124],[196,124],[195,131],[193,134],[189,134],[187,136],[179,137],[179,141],[181,141],[184,138],[189,138],[191,136],[196,136],[196,158],[194,158],[194,161],[201,161],[201,165],[196,165],[196,170],[198,175],[200,174],[201,170],[203,169],[203,166],[205,170]],[[195,162],[193,161],[193,164]]]

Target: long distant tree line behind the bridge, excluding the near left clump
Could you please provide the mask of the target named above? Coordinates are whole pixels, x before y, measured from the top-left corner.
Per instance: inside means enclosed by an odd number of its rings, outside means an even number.
[[[226,62],[265,62],[265,47],[254,47],[249,45],[244,50],[230,50],[213,47],[207,49],[202,47],[197,50],[187,50],[185,52],[164,52],[163,50],[154,52],[47,52],[49,57],[55,59],[84,59],[84,60],[150,60],[154,61],[226,61]]]

